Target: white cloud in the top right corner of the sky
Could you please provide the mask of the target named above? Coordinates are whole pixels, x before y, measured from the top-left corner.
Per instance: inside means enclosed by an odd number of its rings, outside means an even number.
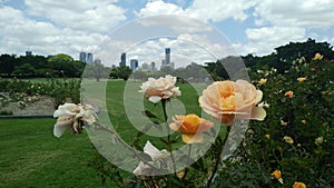
[[[334,1],[265,0],[255,7],[258,26],[324,28],[334,26]]]

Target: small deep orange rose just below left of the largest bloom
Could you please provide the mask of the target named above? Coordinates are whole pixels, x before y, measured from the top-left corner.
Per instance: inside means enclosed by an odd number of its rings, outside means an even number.
[[[186,144],[202,142],[203,136],[200,132],[207,131],[214,127],[212,121],[199,118],[197,115],[190,113],[187,116],[175,116],[174,122],[169,128],[183,133],[183,141]]]

